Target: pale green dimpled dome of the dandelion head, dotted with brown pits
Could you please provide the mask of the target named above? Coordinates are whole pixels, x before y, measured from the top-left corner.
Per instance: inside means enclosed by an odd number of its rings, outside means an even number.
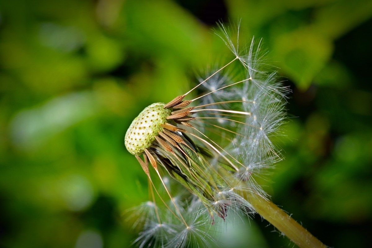
[[[171,115],[170,109],[163,109],[164,105],[165,103],[153,103],[133,120],[125,134],[128,152],[140,155],[155,141],[155,136],[163,130],[160,125],[167,122],[167,116]]]

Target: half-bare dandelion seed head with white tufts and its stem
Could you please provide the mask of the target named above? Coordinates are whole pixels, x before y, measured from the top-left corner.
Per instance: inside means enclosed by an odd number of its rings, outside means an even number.
[[[146,205],[153,211],[135,243],[141,248],[205,247],[212,241],[208,231],[215,216],[225,220],[230,212],[257,212],[300,247],[324,247],[270,202],[256,182],[281,160],[272,137],[285,120],[288,89],[277,82],[275,72],[263,70],[261,41],[255,45],[252,39],[248,48],[242,48],[239,29],[233,41],[228,28],[222,23],[219,28],[218,35],[233,54],[230,62],[199,78],[194,88],[169,103],[146,107],[126,132],[127,150],[136,156],[152,185],[150,162],[169,197],[169,201],[161,198],[162,212],[155,204]],[[243,73],[232,76],[237,67]],[[184,100],[196,89],[205,92]],[[167,176],[194,199],[187,203],[189,197],[182,201],[174,195]]]

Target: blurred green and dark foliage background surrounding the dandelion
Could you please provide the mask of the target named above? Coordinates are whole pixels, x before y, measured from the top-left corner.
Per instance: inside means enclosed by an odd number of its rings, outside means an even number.
[[[129,247],[125,210],[148,193],[126,129],[227,53],[211,28],[239,19],[293,91],[265,189],[325,244],[368,247],[371,16],[368,0],[1,1],[0,247]],[[267,224],[221,242],[288,247]]]

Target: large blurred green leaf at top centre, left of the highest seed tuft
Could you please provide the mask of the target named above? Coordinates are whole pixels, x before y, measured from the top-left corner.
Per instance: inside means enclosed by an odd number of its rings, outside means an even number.
[[[124,8],[128,28],[126,35],[138,51],[172,54],[178,57],[179,63],[185,59],[198,61],[203,51],[208,51],[204,45],[206,30],[172,1],[127,1]]]

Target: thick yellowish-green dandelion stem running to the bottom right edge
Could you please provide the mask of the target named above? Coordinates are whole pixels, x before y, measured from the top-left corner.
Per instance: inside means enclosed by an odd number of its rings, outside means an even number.
[[[299,247],[327,247],[270,200],[248,191],[240,191],[239,194],[252,205],[259,215]]]

